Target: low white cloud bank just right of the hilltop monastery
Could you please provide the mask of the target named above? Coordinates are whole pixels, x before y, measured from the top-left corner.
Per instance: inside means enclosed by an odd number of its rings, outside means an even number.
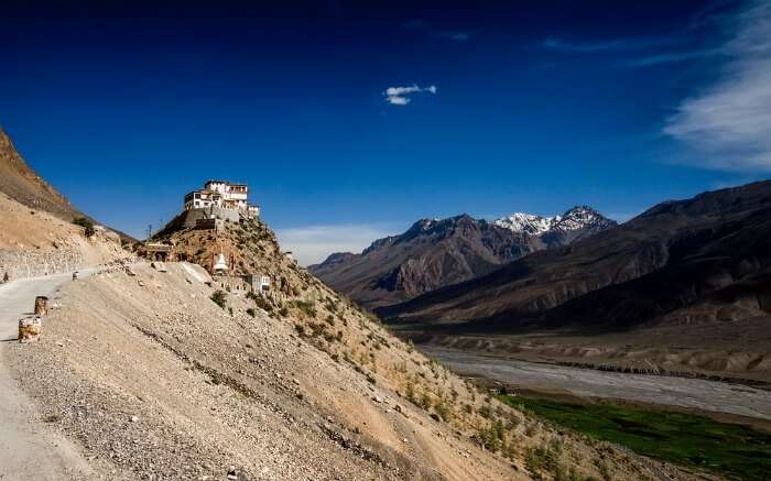
[[[276,229],[279,243],[301,265],[323,262],[334,252],[361,252],[373,240],[393,233],[387,225],[305,226]]]

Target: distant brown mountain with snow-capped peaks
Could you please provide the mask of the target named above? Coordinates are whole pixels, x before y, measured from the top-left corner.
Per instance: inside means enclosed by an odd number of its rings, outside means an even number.
[[[361,254],[336,253],[308,270],[338,292],[374,308],[475,278],[531,252],[567,245],[615,222],[588,207],[544,218],[514,214],[495,222],[463,215],[422,219]]]

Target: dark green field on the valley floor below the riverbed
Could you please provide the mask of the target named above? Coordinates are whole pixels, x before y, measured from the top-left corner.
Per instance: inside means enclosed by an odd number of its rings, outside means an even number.
[[[651,458],[723,474],[771,480],[771,435],[694,414],[612,404],[501,396],[542,418]]]

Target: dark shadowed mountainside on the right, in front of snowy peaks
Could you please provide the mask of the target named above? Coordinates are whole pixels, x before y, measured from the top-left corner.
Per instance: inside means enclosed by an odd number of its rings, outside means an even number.
[[[660,204],[569,247],[381,311],[487,331],[576,331],[768,316],[771,182]]]

